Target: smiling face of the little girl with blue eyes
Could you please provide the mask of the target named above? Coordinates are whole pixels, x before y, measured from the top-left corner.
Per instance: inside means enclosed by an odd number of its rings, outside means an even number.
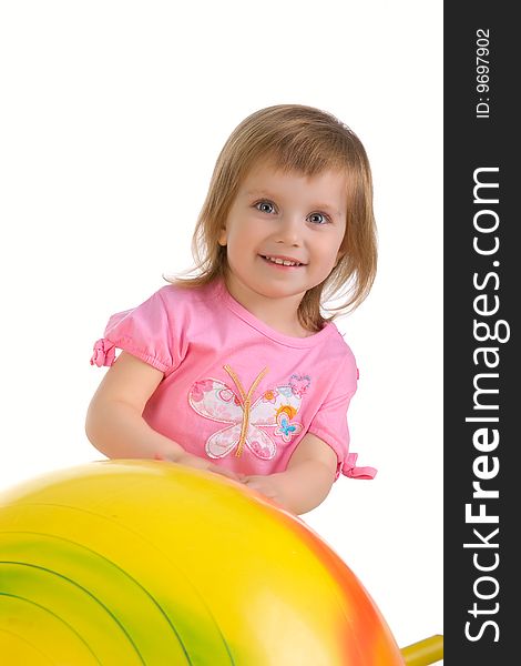
[[[218,242],[226,245],[228,289],[270,299],[295,297],[323,282],[341,256],[347,176],[311,178],[253,168],[243,180]]]

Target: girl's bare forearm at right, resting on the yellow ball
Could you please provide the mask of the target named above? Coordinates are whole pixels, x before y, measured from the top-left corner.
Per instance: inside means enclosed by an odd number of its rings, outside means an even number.
[[[308,433],[292,455],[287,470],[268,476],[248,476],[246,485],[300,515],[311,511],[329,494],[337,470],[337,454]]]

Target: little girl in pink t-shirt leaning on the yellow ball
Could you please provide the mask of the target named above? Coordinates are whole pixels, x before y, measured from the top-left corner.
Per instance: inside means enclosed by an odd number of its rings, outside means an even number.
[[[193,248],[195,276],[112,315],[95,343],[91,363],[111,367],[88,411],[92,444],[224,474],[295,514],[340,473],[372,478],[348,453],[358,371],[333,323],[376,272],[358,138],[311,107],[253,113],[221,151]],[[326,316],[333,295],[344,304]]]

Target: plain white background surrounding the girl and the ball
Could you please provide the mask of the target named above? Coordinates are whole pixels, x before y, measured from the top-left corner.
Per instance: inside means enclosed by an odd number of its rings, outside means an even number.
[[[379,272],[338,320],[375,481],[304,516],[403,647],[442,634],[442,3],[6,2],[0,490],[99,460],[83,423],[110,314],[191,265],[215,159],[276,103],[331,111],[372,165]]]

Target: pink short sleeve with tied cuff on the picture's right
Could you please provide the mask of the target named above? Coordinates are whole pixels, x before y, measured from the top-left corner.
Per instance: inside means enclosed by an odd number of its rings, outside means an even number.
[[[308,432],[328,444],[337,454],[337,472],[335,481],[344,474],[351,478],[374,478],[374,467],[357,467],[356,453],[349,453],[349,427],[347,411],[351,397],[357,390],[358,370],[355,359],[350,356],[338,375],[336,386],[313,418]]]

